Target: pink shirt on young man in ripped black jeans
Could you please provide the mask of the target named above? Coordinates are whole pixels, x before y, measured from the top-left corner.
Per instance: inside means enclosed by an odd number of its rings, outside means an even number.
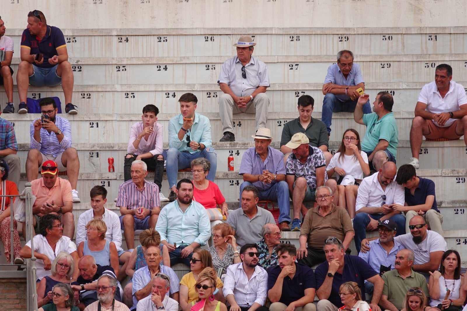
[[[152,155],[162,155],[163,146],[163,127],[162,124],[154,123],[154,132],[149,135],[148,141],[143,138],[135,149],[133,141],[136,139],[138,134],[143,131],[143,122],[134,123],[130,128],[130,140],[128,141],[127,153],[132,155],[142,155],[150,152]]]

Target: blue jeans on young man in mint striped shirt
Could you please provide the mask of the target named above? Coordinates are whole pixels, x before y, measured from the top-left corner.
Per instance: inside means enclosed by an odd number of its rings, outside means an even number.
[[[209,170],[206,178],[213,182],[217,170],[217,155],[214,148],[204,148],[200,152],[193,154],[188,151],[179,151],[177,148],[167,150],[165,170],[167,172],[167,179],[169,179],[169,188],[177,184],[178,170],[191,167],[191,161],[198,158],[206,158],[211,163],[211,170]]]

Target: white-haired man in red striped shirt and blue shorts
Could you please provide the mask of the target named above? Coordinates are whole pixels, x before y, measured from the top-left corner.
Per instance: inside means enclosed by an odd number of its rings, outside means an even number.
[[[161,211],[159,187],[145,180],[148,166],[141,160],[131,163],[131,180],[120,184],[116,206],[120,207],[120,225],[128,251],[134,248],[134,230],[156,227]]]

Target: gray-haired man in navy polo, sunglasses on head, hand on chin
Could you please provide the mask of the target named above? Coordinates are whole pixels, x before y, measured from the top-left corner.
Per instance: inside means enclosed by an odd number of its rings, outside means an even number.
[[[316,294],[318,295],[318,311],[337,311],[342,305],[339,295],[340,285],[354,281],[365,297],[364,281],[373,283],[373,297],[370,307],[372,311],[381,311],[378,302],[381,298],[384,282],[371,266],[358,256],[345,255],[342,242],[333,236],[325,240],[324,253],[326,261],[315,269]]]

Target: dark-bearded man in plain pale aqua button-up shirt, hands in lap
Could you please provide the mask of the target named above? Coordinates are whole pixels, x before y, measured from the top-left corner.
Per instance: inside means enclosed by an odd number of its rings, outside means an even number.
[[[193,183],[182,179],[177,184],[177,200],[165,205],[159,214],[156,231],[169,249],[170,266],[182,262],[190,266],[197,247],[211,237],[211,224],[203,205],[193,201]]]

